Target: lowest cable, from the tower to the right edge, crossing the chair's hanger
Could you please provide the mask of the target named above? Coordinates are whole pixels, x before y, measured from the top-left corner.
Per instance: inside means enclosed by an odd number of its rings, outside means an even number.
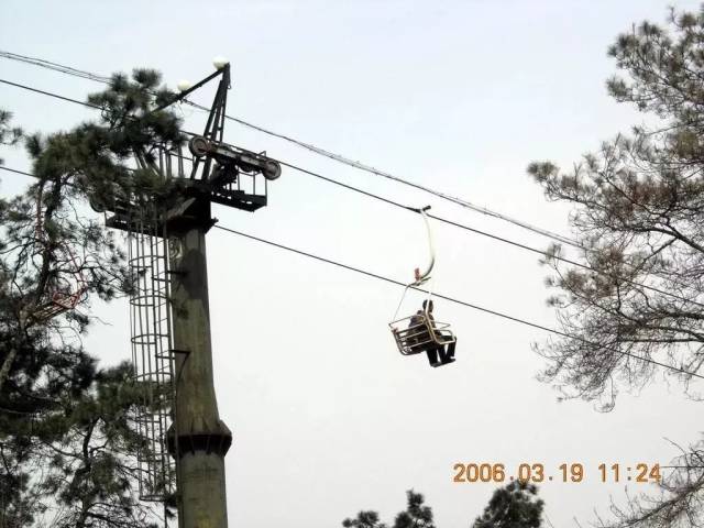
[[[425,293],[425,294],[429,293],[428,290],[426,290],[424,288],[420,288],[420,287],[417,287],[417,286],[408,286],[406,283],[403,283],[400,280],[396,280],[396,279],[391,278],[391,277],[386,277],[384,275],[380,275],[380,274],[376,274],[376,273],[373,273],[373,272],[370,272],[370,271],[366,271],[366,270],[362,270],[362,268],[359,268],[359,267],[355,267],[355,266],[343,264],[341,262],[333,261],[331,258],[326,258],[323,256],[319,256],[319,255],[316,255],[314,253],[309,253],[309,252],[306,252],[306,251],[302,251],[302,250],[298,250],[296,248],[292,248],[292,246],[288,246],[288,245],[279,244],[277,242],[272,242],[271,240],[261,239],[261,238],[254,237],[252,234],[243,233],[242,231],[237,231],[234,229],[230,229],[230,228],[226,228],[226,227],[217,226],[217,224],[215,226],[215,228],[219,229],[221,231],[226,231],[228,233],[238,234],[240,237],[243,237],[243,238],[246,238],[246,239],[250,239],[250,240],[254,240],[256,242],[261,242],[263,244],[267,244],[267,245],[272,245],[274,248],[278,248],[279,250],[286,250],[288,252],[296,253],[296,254],[302,255],[302,256],[307,256],[309,258],[314,258],[314,260],[319,261],[319,262],[324,262],[326,264],[331,264],[333,266],[338,266],[338,267],[341,267],[343,270],[348,270],[350,272],[355,272],[355,273],[359,273],[361,275],[366,275],[367,277],[376,278],[378,280],[383,280],[385,283],[393,284],[395,286],[400,286],[400,287],[404,287],[404,288],[410,287],[410,288],[413,288],[413,289],[415,289],[417,292],[421,292],[421,293]],[[437,293],[433,294],[433,296],[438,297],[440,299],[448,300],[450,302],[454,302],[457,305],[461,305],[461,306],[464,306],[464,307],[468,307],[468,308],[472,308],[473,310],[477,310],[477,311],[481,311],[481,312],[484,312],[484,314],[488,314],[491,316],[495,316],[495,317],[498,317],[498,318],[502,318],[502,319],[505,319],[505,320],[508,320],[508,321],[517,322],[517,323],[524,324],[526,327],[531,327],[531,328],[536,328],[538,330],[542,330],[544,332],[554,333],[556,336],[560,336],[562,338],[573,339],[575,341],[580,341],[580,342],[582,342],[584,344],[587,344],[590,346],[597,346],[597,348],[601,348],[603,350],[607,350],[609,352],[614,352],[614,353],[617,353],[617,354],[620,354],[620,355],[632,358],[634,360],[642,361],[645,363],[650,363],[650,364],[653,364],[653,365],[658,365],[658,366],[661,366],[663,369],[668,369],[668,370],[678,372],[680,374],[685,374],[688,376],[698,377],[701,380],[704,380],[704,375],[696,374],[695,372],[685,371],[684,369],[681,369],[681,367],[678,367],[678,366],[668,365],[667,363],[662,363],[662,362],[659,362],[657,360],[651,360],[649,358],[642,358],[642,356],[632,354],[630,352],[625,352],[623,350],[613,349],[610,346],[602,346],[600,343],[595,343],[593,341],[590,341],[587,339],[581,338],[579,336],[573,336],[571,333],[566,333],[566,332],[563,332],[561,330],[557,330],[554,328],[546,327],[546,326],[539,324],[537,322],[528,321],[528,320],[521,319],[519,317],[509,316],[508,314],[504,314],[504,312],[501,312],[501,311],[492,310],[491,308],[485,308],[483,306],[479,306],[479,305],[475,305],[475,304],[472,304],[472,302],[468,302],[465,300],[458,299],[455,297],[450,297],[448,295],[437,294]]]

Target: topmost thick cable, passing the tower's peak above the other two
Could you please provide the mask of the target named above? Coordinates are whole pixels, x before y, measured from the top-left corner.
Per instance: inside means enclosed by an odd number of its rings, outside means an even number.
[[[110,78],[109,77],[106,77],[106,76],[102,76],[102,75],[97,75],[97,74],[94,74],[91,72],[77,69],[77,68],[74,68],[72,66],[66,66],[66,65],[54,63],[54,62],[51,62],[51,61],[45,61],[43,58],[28,57],[25,55],[19,55],[19,54],[15,54],[15,53],[4,52],[4,51],[0,51],[0,57],[9,58],[11,61],[19,61],[19,62],[31,64],[33,66],[38,66],[38,67],[42,67],[42,68],[53,69],[53,70],[62,73],[62,74],[72,75],[72,76],[80,77],[80,78],[84,78],[84,79],[95,80],[95,81],[103,82],[103,84],[110,84]],[[198,110],[201,110],[201,111],[205,111],[205,112],[210,112],[209,108],[207,108],[207,107],[205,107],[202,105],[198,105],[197,102],[190,101],[187,98],[184,98],[183,102],[185,102],[186,105],[189,105],[189,106],[191,106],[194,108],[197,108]],[[275,132],[273,130],[265,129],[264,127],[260,127],[260,125],[250,123],[250,122],[248,122],[248,121],[245,121],[243,119],[234,118],[234,117],[228,116],[228,114],[226,114],[224,118],[230,120],[230,121],[232,121],[232,122],[234,122],[234,123],[238,123],[238,124],[240,124],[242,127],[246,127],[249,129],[255,130],[257,132],[261,132],[263,134],[270,135],[272,138],[277,138],[279,140],[293,143],[293,144],[295,144],[297,146],[300,146],[300,147],[302,147],[302,148],[305,148],[305,150],[307,150],[309,152],[312,152],[312,153],[318,154],[320,156],[323,156],[323,157],[327,157],[329,160],[336,161],[338,163],[342,163],[344,165],[348,165],[350,167],[356,168],[359,170],[364,170],[364,172],[373,174],[375,176],[381,176],[383,178],[391,179],[393,182],[396,182],[396,183],[413,187],[415,189],[421,190],[424,193],[430,194],[430,195],[436,196],[438,198],[441,198],[443,200],[451,201],[451,202],[453,202],[455,205],[459,205],[459,206],[464,207],[466,209],[473,210],[475,212],[480,212],[482,215],[486,215],[486,216],[490,216],[490,217],[493,217],[493,218],[497,218],[499,220],[513,223],[514,226],[518,226],[518,227],[520,227],[522,229],[526,229],[528,231],[531,231],[534,233],[540,234],[542,237],[547,237],[549,239],[553,239],[553,240],[556,240],[558,242],[561,242],[563,244],[572,245],[574,248],[579,248],[579,249],[588,251],[587,248],[585,248],[584,245],[580,244],[578,241],[575,241],[573,239],[570,239],[569,237],[562,235],[562,234],[559,234],[559,233],[554,233],[554,232],[549,231],[547,229],[538,228],[536,226],[531,226],[528,222],[524,222],[521,220],[515,219],[515,218],[509,217],[507,215],[503,215],[501,212],[493,211],[493,210],[491,210],[488,208],[474,205],[474,204],[472,204],[472,202],[470,202],[468,200],[463,200],[462,198],[458,198],[455,196],[451,196],[451,195],[448,195],[446,193],[441,193],[439,190],[431,189],[430,187],[426,187],[424,185],[416,184],[414,182],[409,182],[409,180],[407,180],[405,178],[402,178],[399,176],[395,176],[395,175],[393,175],[391,173],[387,173],[385,170],[377,169],[377,168],[375,168],[375,167],[373,167],[371,165],[366,165],[364,163],[356,162],[354,160],[350,160],[349,157],[345,157],[345,156],[342,156],[340,154],[336,154],[333,152],[327,151],[327,150],[321,148],[319,146],[316,146],[316,145],[314,145],[311,143],[306,143],[305,141],[297,140],[297,139],[292,138],[289,135],[282,134],[279,132]]]

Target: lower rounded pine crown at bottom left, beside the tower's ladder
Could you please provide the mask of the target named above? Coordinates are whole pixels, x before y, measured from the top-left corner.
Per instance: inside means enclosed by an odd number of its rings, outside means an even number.
[[[132,380],[129,363],[101,371],[61,415],[33,424],[38,452],[51,461],[35,485],[54,497],[52,526],[156,528],[157,512],[138,501],[135,453],[145,453],[145,442],[135,417],[147,387]]]

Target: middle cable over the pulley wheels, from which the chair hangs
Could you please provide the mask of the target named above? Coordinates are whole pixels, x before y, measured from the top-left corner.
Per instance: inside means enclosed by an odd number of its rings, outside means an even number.
[[[10,81],[10,80],[7,80],[7,79],[0,78],[0,82],[1,84],[7,84],[7,85],[10,85],[10,86],[14,86],[16,88],[22,88],[22,89],[25,89],[25,90],[30,90],[30,91],[33,91],[33,92],[36,92],[36,94],[41,94],[41,95],[44,95],[44,96],[53,97],[53,98],[56,98],[56,99],[59,99],[59,100],[64,100],[64,101],[68,101],[68,102],[77,103],[77,105],[82,105],[82,106],[88,107],[88,108],[102,110],[101,107],[99,107],[97,105],[91,105],[89,102],[85,102],[85,101],[80,101],[78,99],[73,99],[73,98],[69,98],[69,97],[61,96],[58,94],[54,94],[54,92],[51,92],[51,91],[40,90],[37,88],[34,88],[34,87],[31,87],[31,86],[26,86],[26,85],[22,85],[22,84],[19,84],[19,82],[13,82],[13,81]],[[184,133],[186,133],[188,135],[197,135],[194,132],[188,132],[188,131],[184,131],[184,130],[182,130],[182,132],[184,132]],[[272,160],[275,160],[275,158],[272,157]],[[285,166],[285,167],[292,168],[294,170],[300,172],[302,174],[316,177],[316,178],[321,179],[323,182],[328,182],[328,183],[330,183],[332,185],[336,185],[336,186],[339,186],[339,187],[343,187],[343,188],[345,188],[348,190],[352,190],[354,193],[361,194],[363,196],[366,196],[369,198],[372,198],[372,199],[375,199],[375,200],[378,200],[378,201],[383,201],[383,202],[385,202],[387,205],[391,205],[391,206],[394,206],[394,207],[398,207],[398,208],[406,209],[406,210],[411,211],[411,212],[419,213],[419,210],[417,208],[406,206],[404,204],[400,204],[398,201],[392,200],[389,198],[385,198],[385,197],[376,195],[374,193],[370,193],[367,190],[360,189],[358,187],[354,187],[354,186],[349,185],[349,184],[344,184],[344,183],[339,182],[337,179],[329,178],[327,176],[323,176],[322,174],[319,174],[319,173],[314,172],[314,170],[309,170],[309,169],[300,167],[298,165],[295,165],[295,164],[292,164],[292,163],[288,163],[288,162],[285,162],[285,161],[282,161],[282,160],[275,160],[275,161],[277,161],[282,166]],[[503,243],[513,245],[515,248],[519,248],[519,249],[522,249],[522,250],[539,254],[541,256],[548,256],[544,250],[539,250],[537,248],[532,248],[532,246],[529,246],[527,244],[506,239],[504,237],[499,237],[499,235],[496,235],[496,234],[493,234],[493,233],[488,233],[486,231],[482,231],[482,230],[476,229],[476,228],[472,228],[470,226],[466,226],[466,224],[463,224],[463,223],[460,223],[460,222],[455,222],[453,220],[449,220],[449,219],[446,219],[446,218],[442,218],[442,217],[438,217],[436,215],[427,213],[427,216],[428,216],[428,218],[431,218],[431,219],[437,220],[439,222],[447,223],[449,226],[453,226],[455,228],[460,228],[460,229],[463,229],[465,231],[473,232],[475,234],[480,234],[482,237],[486,237],[486,238],[496,240],[498,242],[503,242]],[[600,275],[607,276],[606,272],[603,272],[601,270],[595,270],[595,268],[593,268],[592,266],[590,266],[587,264],[583,264],[581,262],[573,261],[571,258],[561,256],[561,255],[559,255],[557,253],[550,254],[549,257],[550,258],[554,258],[556,261],[563,262],[565,264],[570,264],[570,265],[578,266],[578,267],[583,268],[583,270],[587,270],[587,271],[594,272],[594,273],[600,274]],[[689,304],[692,304],[692,305],[695,305],[695,306],[704,307],[704,302],[700,302],[700,301],[697,301],[695,299],[689,299],[686,297],[683,297],[681,295],[674,294],[672,292],[667,292],[667,290],[658,288],[656,286],[650,286],[650,285],[647,285],[647,284],[642,284],[642,283],[636,282],[636,280],[631,280],[629,278],[625,278],[625,277],[620,277],[620,278],[627,284],[639,286],[639,287],[642,287],[642,288],[648,289],[650,292],[654,292],[654,293],[658,293],[660,295],[664,295],[664,296],[668,296],[670,298],[674,298],[674,299],[678,299],[678,300],[681,300],[681,301],[685,301],[685,302],[689,302]]]

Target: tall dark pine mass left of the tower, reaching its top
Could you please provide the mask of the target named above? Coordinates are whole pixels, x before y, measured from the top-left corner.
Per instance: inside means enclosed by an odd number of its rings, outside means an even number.
[[[140,439],[130,419],[146,388],[125,365],[98,369],[80,338],[90,297],[127,295],[133,278],[121,240],[84,206],[157,200],[174,187],[154,166],[157,147],[184,141],[178,119],[155,111],[173,97],[160,82],[153,70],[116,75],[88,99],[102,109],[97,122],[28,136],[36,183],[0,199],[2,526],[55,512],[52,526],[66,527],[136,528],[152,517],[136,501]],[[0,118],[0,140],[16,141],[10,116]],[[67,298],[81,302],[57,307]]]

